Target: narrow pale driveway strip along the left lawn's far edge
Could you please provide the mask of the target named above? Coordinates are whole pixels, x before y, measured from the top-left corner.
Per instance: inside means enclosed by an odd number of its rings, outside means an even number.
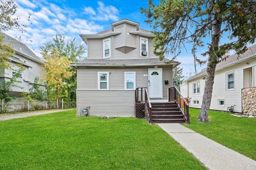
[[[46,110],[46,111],[34,111],[34,112],[25,112],[21,114],[9,114],[9,115],[1,115],[0,114],[0,121],[6,121],[14,118],[22,118],[22,117],[29,117],[29,116],[38,116],[38,115],[44,115],[49,113],[55,113],[55,112],[62,112],[62,111],[70,111],[73,109],[56,109],[56,110]]]

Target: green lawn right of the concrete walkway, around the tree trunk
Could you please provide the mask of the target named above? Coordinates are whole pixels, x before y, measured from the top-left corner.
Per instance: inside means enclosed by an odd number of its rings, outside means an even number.
[[[209,111],[209,122],[197,121],[200,110],[191,108],[190,123],[184,124],[205,137],[256,160],[256,118],[235,117],[230,113]]]

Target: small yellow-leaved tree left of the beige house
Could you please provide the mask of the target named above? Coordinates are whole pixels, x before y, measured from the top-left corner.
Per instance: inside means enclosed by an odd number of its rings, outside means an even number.
[[[46,68],[47,88],[55,92],[60,106],[60,98],[68,96],[67,87],[70,86],[65,80],[69,80],[75,72],[70,71],[71,61],[67,57],[61,57],[58,50],[52,50],[51,54],[46,55],[44,59],[46,61],[44,66]]]

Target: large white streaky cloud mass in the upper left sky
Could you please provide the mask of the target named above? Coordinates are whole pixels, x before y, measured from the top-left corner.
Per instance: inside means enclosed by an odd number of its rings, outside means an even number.
[[[20,37],[22,43],[28,45],[36,54],[39,54],[39,47],[57,33],[65,34],[66,37],[78,37],[79,33],[95,33],[103,29],[103,26],[94,21],[78,18],[78,15],[84,11],[75,12],[70,8],[60,7],[43,0],[33,1],[36,4],[33,5],[30,1],[17,0],[16,2],[15,15],[20,16],[21,24],[27,25],[24,28],[26,32],[9,30],[6,33],[14,38]]]

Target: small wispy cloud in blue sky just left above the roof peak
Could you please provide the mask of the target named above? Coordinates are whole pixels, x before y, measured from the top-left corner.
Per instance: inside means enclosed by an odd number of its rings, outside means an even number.
[[[84,13],[91,15],[91,19],[94,21],[117,21],[119,20],[119,11],[115,6],[106,6],[103,2],[98,1],[97,12],[92,7],[85,7]]]

